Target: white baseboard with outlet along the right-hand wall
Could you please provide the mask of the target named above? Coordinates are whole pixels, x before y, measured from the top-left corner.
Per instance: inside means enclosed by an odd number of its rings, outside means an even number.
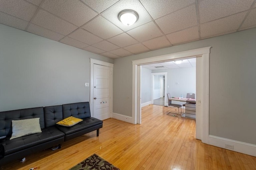
[[[216,136],[213,136],[213,135],[209,135],[209,141],[208,142],[209,142],[208,143],[209,145],[213,145],[213,146],[228,149],[228,150],[233,150],[233,151],[248,154],[248,155],[251,155],[251,156],[256,156],[256,145],[253,145],[253,144],[250,144],[250,143],[234,141],[232,139],[216,137]],[[225,144],[233,145],[234,149],[226,148]]]

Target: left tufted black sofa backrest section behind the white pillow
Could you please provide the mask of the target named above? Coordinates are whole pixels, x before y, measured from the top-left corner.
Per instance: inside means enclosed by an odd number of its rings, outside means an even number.
[[[12,120],[40,118],[40,127],[44,128],[44,107],[19,109],[0,112],[0,137],[12,135]]]

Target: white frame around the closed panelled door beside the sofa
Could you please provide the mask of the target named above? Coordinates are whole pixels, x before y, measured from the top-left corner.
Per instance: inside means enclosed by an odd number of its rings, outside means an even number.
[[[91,77],[90,77],[90,111],[91,111],[91,115],[93,117],[93,102],[94,102],[94,94],[93,94],[93,80],[94,80],[94,64],[98,64],[98,65],[102,65],[102,66],[108,66],[110,67],[110,77],[109,77],[109,114],[110,117],[112,117],[112,110],[113,110],[113,67],[114,64],[112,63],[107,63],[104,61],[99,61],[99,60],[95,60],[95,59],[90,59],[90,63],[91,63]]]

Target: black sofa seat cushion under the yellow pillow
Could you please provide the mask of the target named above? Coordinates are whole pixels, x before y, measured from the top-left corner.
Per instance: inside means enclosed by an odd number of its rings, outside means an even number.
[[[84,118],[83,121],[81,121],[80,123],[72,126],[72,127],[65,127],[65,126],[60,126],[60,125],[56,125],[56,127],[58,129],[60,129],[62,132],[65,133],[65,135],[69,135],[71,133],[76,133],[78,131],[82,131],[83,129],[95,126],[95,125],[99,125],[102,124],[103,121],[96,119],[94,117],[88,117],[88,118]]]

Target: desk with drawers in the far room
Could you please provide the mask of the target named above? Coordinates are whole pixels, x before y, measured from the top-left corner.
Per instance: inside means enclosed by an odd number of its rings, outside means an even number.
[[[196,99],[186,99],[186,98],[169,98],[169,100],[186,102],[185,104],[185,113],[182,117],[189,119],[196,119]],[[189,103],[187,103],[189,102]]]

